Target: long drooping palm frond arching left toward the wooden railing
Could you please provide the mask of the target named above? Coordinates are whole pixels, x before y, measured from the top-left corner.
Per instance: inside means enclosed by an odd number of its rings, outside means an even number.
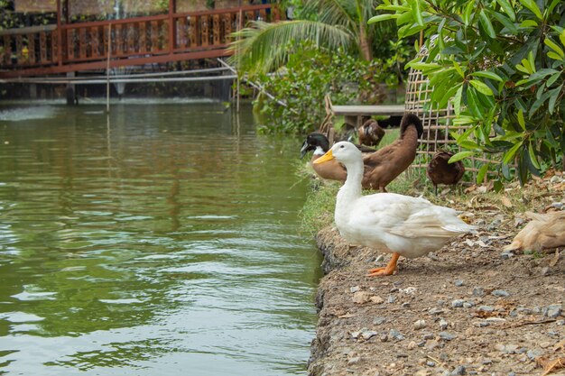
[[[232,63],[250,74],[266,73],[282,67],[289,55],[289,42],[313,41],[330,50],[347,48],[351,33],[326,23],[296,20],[280,23],[255,21],[250,27],[232,34]]]

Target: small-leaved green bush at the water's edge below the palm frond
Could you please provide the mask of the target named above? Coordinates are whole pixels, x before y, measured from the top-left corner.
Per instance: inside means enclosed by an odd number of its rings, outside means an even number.
[[[384,98],[381,83],[397,82],[392,60],[357,60],[343,51],[330,52],[308,42],[294,49],[284,69],[258,78],[266,92],[286,103],[282,106],[263,96],[255,100],[255,108],[268,116],[267,132],[311,132],[326,116],[327,94],[335,105],[359,100],[376,104]]]

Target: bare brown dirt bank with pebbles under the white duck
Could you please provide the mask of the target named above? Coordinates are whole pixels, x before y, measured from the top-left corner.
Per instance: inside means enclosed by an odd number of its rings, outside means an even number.
[[[491,209],[477,234],[390,277],[366,277],[390,255],[322,230],[310,375],[565,375],[565,251],[503,252],[525,221]]]

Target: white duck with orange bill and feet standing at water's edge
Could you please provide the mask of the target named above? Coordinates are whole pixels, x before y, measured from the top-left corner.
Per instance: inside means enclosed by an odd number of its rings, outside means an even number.
[[[449,239],[475,229],[458,218],[449,207],[431,204],[424,198],[376,193],[363,196],[363,157],[350,142],[338,142],[313,163],[338,160],[347,169],[339,189],[335,221],[347,242],[393,253],[384,268],[369,276],[391,275],[400,256],[415,258],[439,250]]]

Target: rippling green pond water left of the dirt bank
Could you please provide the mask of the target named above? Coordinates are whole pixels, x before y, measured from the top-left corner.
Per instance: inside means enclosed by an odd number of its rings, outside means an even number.
[[[0,374],[304,375],[300,140],[250,108],[0,105]]]

